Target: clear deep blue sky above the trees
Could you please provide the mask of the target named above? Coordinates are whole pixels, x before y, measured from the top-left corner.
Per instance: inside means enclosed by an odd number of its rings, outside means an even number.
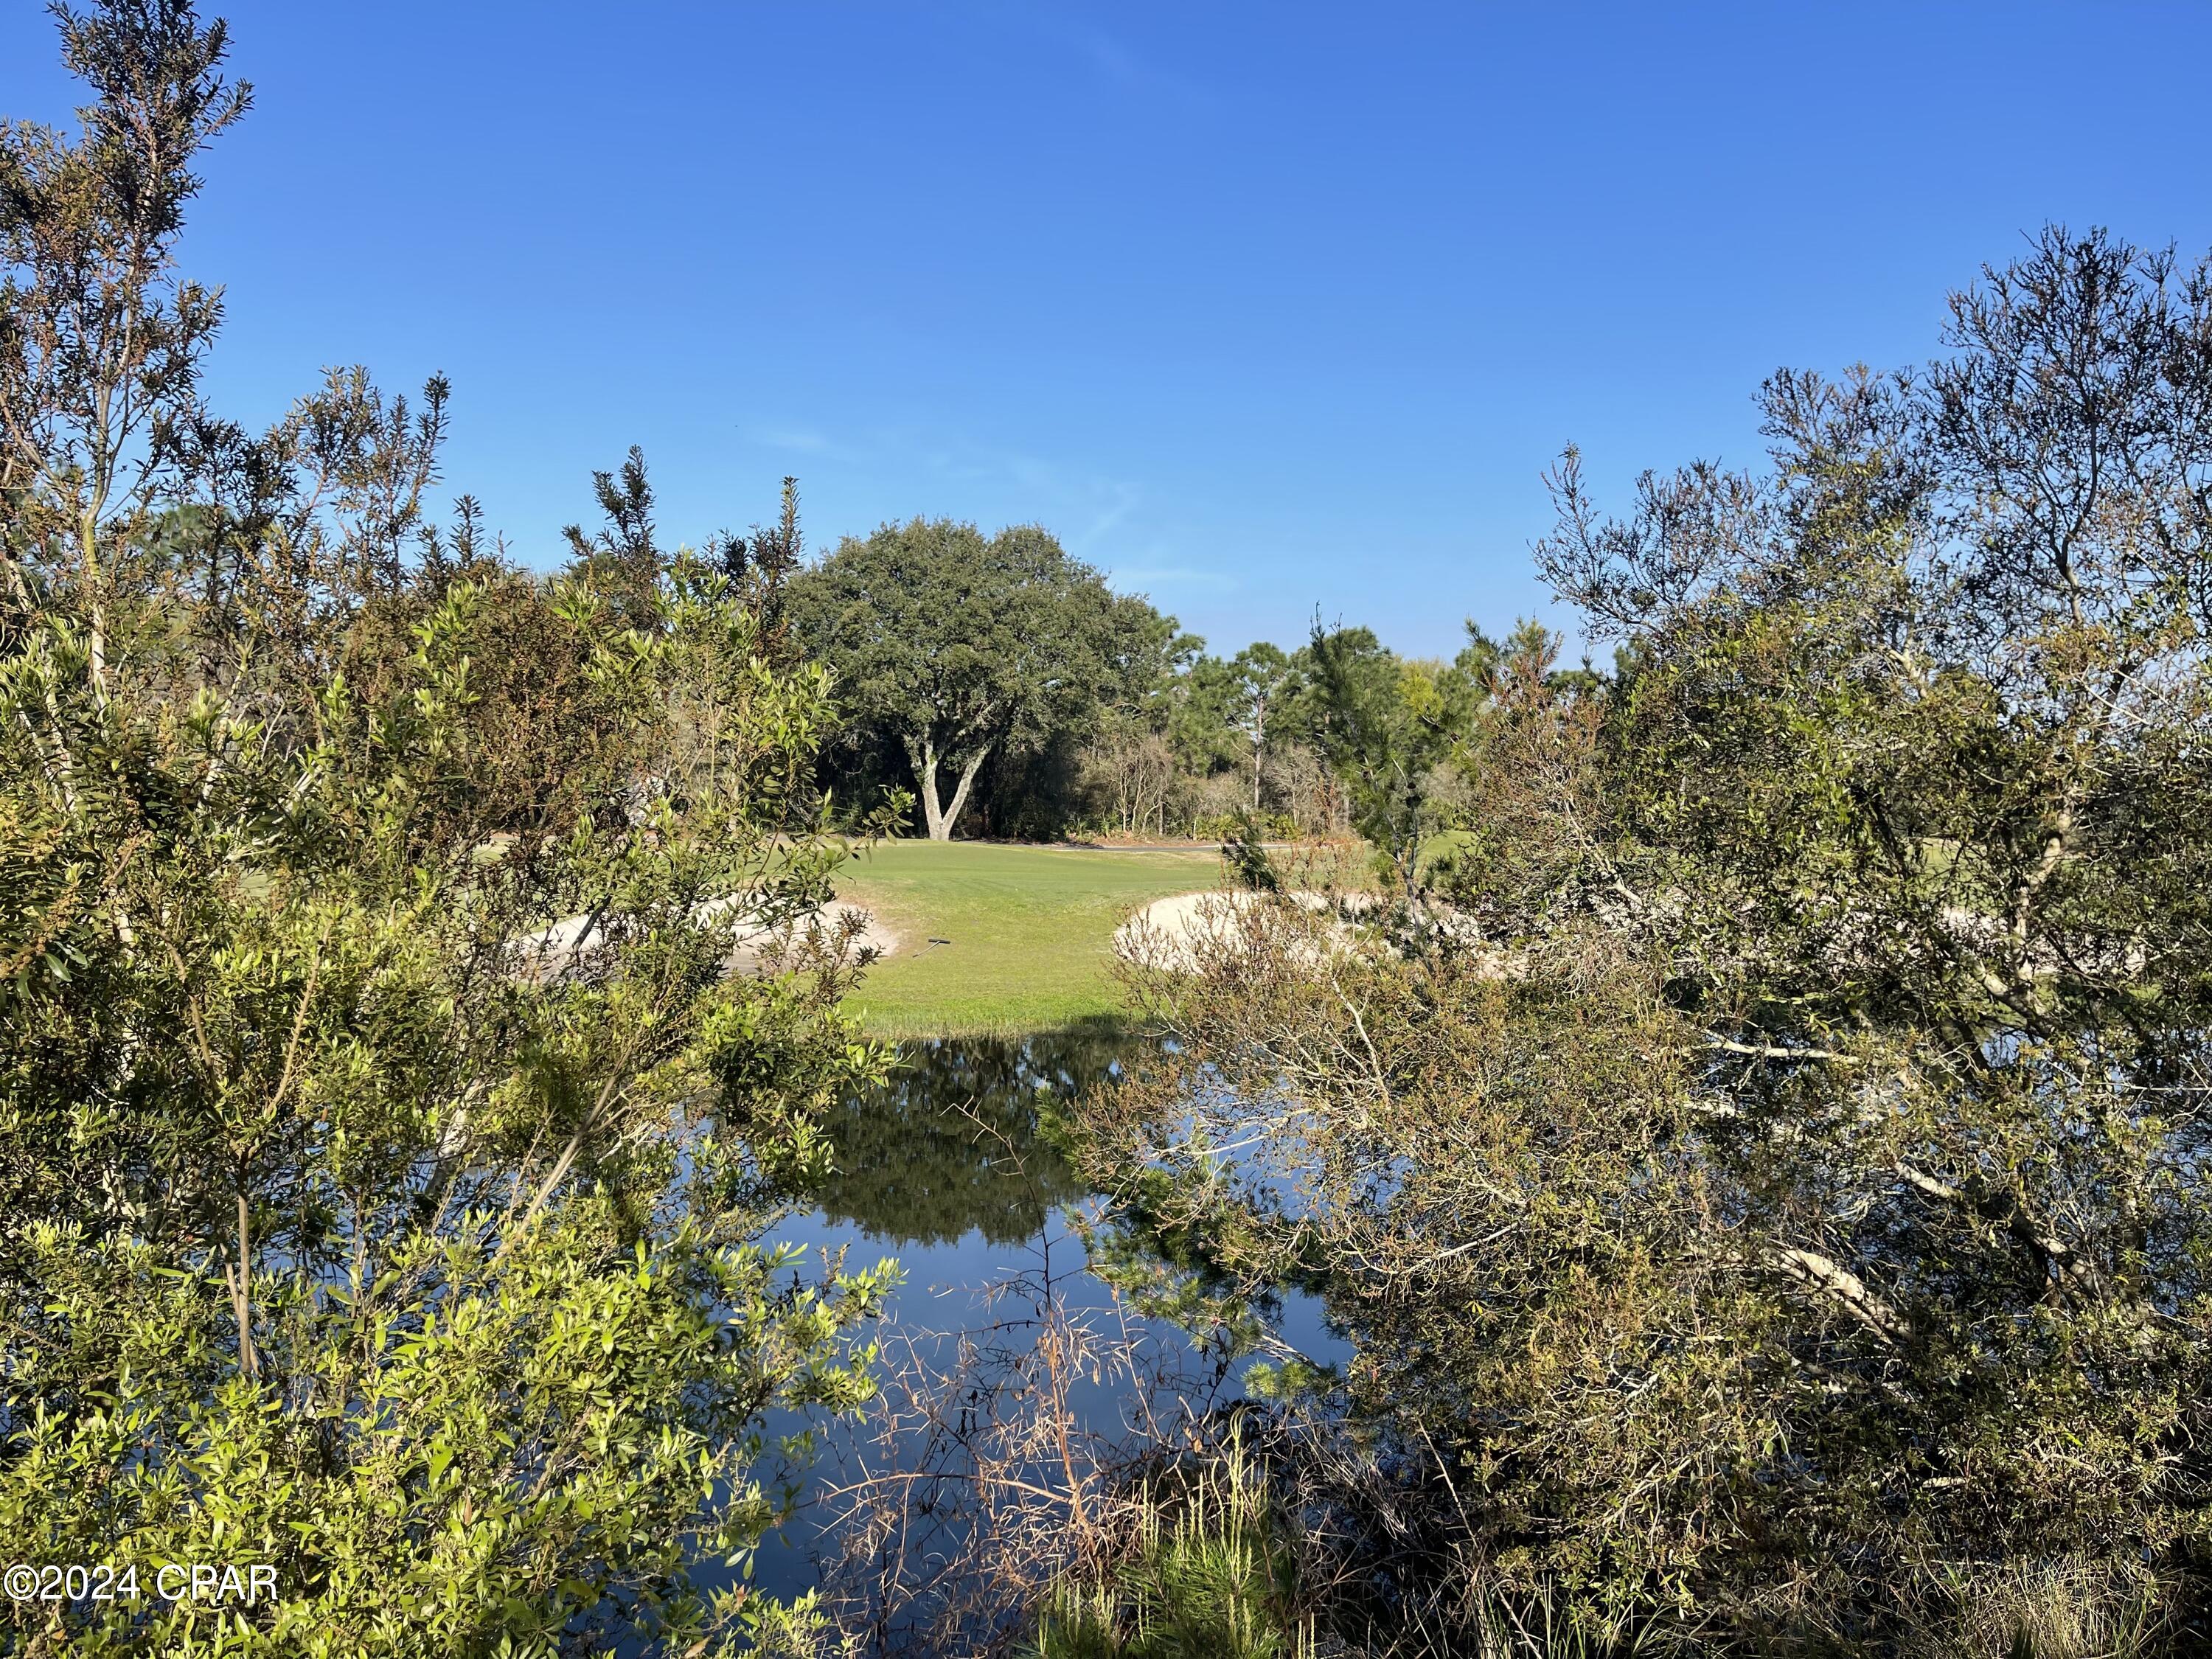
[[[232,414],[445,369],[533,562],[641,442],[670,540],[785,471],[818,546],[1040,520],[1230,650],[1511,624],[1562,445],[1752,458],[1765,374],[1929,356],[2046,219],[2212,243],[2212,4],[221,11]],[[9,0],[0,111],[71,102]]]

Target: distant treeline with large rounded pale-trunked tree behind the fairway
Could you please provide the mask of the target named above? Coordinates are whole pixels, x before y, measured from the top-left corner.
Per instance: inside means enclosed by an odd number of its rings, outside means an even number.
[[[1535,624],[1504,644],[1469,624],[1453,661],[1418,661],[1316,624],[1287,653],[1214,657],[1048,531],[949,520],[847,538],[792,582],[792,619],[836,672],[836,794],[914,799],[936,838],[1464,830],[1451,734],[1509,664],[1555,672],[1557,650]]]

